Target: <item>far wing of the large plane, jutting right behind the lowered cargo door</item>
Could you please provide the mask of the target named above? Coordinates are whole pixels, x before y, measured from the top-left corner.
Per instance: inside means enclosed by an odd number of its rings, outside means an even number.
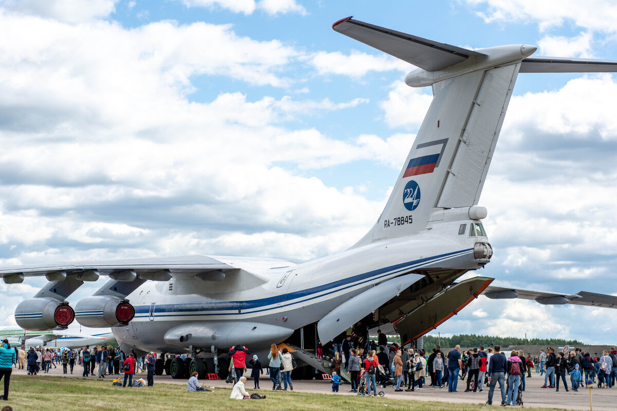
[[[588,293],[587,291],[579,291],[576,294],[564,294],[553,293],[550,291],[537,291],[525,288],[512,288],[491,285],[484,289],[484,292],[482,294],[491,299],[523,298],[526,300],[535,300],[540,304],[576,304],[617,309],[616,296]]]

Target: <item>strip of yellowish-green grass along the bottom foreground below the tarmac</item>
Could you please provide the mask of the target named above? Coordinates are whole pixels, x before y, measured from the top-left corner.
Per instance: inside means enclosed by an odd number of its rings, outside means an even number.
[[[1,387],[1,384],[0,384]],[[155,383],[154,387],[114,387],[110,380],[80,380],[46,376],[45,378],[13,375],[10,379],[8,402],[15,411],[130,411],[130,410],[427,410],[467,411],[487,410],[474,404],[449,404],[395,400],[387,397],[342,396],[302,392],[260,391],[263,401],[238,401],[229,399],[231,390],[217,388],[214,392],[187,392],[186,386]],[[385,406],[387,404],[387,406]],[[532,409],[525,407],[525,410]]]

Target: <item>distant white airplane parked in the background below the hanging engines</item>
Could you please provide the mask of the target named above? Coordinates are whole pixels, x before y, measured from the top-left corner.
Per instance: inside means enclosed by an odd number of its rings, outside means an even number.
[[[0,339],[9,339],[9,344],[15,347],[49,347],[49,348],[79,348],[106,344],[114,339],[114,334],[102,333],[88,335],[72,333],[64,330],[28,331],[21,328],[0,328]]]

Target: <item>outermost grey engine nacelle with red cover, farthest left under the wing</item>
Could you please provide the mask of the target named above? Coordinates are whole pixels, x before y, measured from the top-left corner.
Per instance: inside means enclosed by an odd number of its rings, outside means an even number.
[[[75,311],[68,302],[51,298],[29,298],[15,309],[15,321],[25,330],[45,331],[67,328],[75,320]]]

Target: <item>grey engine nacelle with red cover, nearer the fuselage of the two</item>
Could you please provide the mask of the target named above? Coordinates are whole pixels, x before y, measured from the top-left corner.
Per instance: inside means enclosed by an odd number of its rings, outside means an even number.
[[[127,325],[135,317],[135,307],[115,296],[93,296],[75,305],[75,318],[83,326],[107,328]]]

